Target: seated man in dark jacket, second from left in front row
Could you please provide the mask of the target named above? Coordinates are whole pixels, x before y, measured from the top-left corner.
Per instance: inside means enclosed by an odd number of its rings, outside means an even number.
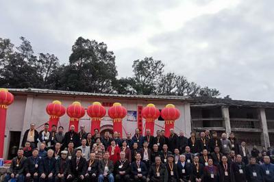
[[[32,157],[28,157],[25,161],[25,174],[26,182],[34,181],[38,182],[39,181],[39,164],[41,159],[38,157],[38,149],[34,148],[34,151],[32,151]]]

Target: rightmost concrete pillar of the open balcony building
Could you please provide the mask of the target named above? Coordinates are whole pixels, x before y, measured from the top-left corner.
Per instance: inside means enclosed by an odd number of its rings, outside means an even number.
[[[262,124],[262,144],[267,148],[270,146],[269,129],[267,128],[265,109],[258,109],[258,117]]]

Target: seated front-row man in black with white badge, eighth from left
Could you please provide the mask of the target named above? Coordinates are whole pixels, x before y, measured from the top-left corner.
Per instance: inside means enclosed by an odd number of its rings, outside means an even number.
[[[114,173],[116,174],[115,179],[116,181],[129,181],[130,176],[130,166],[129,161],[125,159],[125,152],[122,151],[120,153],[120,160],[116,161],[114,166]]]

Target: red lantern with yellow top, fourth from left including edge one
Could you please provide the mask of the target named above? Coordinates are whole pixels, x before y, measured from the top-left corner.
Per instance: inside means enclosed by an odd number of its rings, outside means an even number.
[[[101,118],[105,116],[105,107],[99,102],[94,102],[90,105],[86,111],[91,118],[90,133],[94,135],[95,129],[100,131]]]

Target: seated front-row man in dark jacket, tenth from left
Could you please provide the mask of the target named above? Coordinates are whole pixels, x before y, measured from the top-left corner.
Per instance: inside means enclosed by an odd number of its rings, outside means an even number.
[[[151,164],[149,168],[149,174],[147,175],[147,181],[151,182],[168,182],[169,173],[166,166],[162,164],[161,157],[155,157],[155,163]]]

